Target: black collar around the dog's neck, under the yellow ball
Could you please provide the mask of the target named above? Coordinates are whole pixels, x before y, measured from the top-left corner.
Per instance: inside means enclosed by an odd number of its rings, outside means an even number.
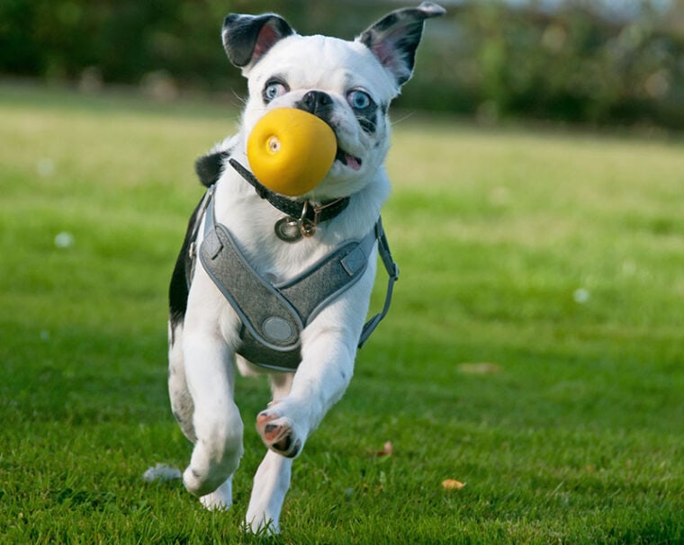
[[[254,187],[259,197],[266,199],[276,209],[287,214],[289,218],[298,220],[301,226],[305,224],[307,230],[311,229],[311,235],[313,235],[319,223],[336,218],[349,204],[349,197],[323,202],[293,201],[284,195],[268,189],[257,180],[257,176],[249,172],[247,168],[238,163],[234,158],[230,157],[229,163],[238,171],[238,174]],[[304,235],[306,236],[307,234],[304,233]]]

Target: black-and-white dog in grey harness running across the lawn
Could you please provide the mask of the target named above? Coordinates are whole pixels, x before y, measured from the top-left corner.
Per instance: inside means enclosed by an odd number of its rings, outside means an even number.
[[[399,9],[353,41],[298,35],[274,13],[232,13],[223,23],[248,99],[238,133],[196,164],[210,189],[169,288],[168,389],[194,445],[184,487],[206,508],[228,509],[243,453],[233,362],[270,373],[273,400],[257,415],[268,451],[247,507],[251,532],[280,532],[293,458],[344,394],[358,345],[389,307],[397,268],[379,221],[390,192],[388,107],[412,75],[424,22],[443,13],[428,2]],[[328,123],[338,145],[325,178],[296,198],[259,183],[246,152],[257,121],[284,107]],[[378,255],[388,297],[365,325]]]

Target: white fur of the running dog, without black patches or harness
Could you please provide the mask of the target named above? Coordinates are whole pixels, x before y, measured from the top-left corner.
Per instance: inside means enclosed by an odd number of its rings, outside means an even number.
[[[430,4],[425,9],[441,8]],[[434,14],[440,13],[423,18]],[[329,122],[339,147],[361,159],[358,169],[336,161],[323,182],[306,195],[314,201],[341,196],[350,196],[351,201],[337,218],[320,224],[314,237],[294,244],[275,236],[274,225],[283,212],[260,199],[233,168],[224,165],[214,197],[216,219],[229,228],[258,272],[282,282],[341,242],[361,239],[374,226],[390,192],[383,166],[390,132],[386,107],[399,93],[401,79],[408,77],[397,76],[397,68],[391,66],[398,62],[396,58],[391,62],[379,58],[377,51],[359,40],[292,34],[269,45],[263,55],[243,66],[249,99],[238,134],[213,151],[229,149],[232,157],[248,165],[246,138],[261,116],[274,108],[294,107],[304,94],[317,90],[329,94],[334,102]],[[406,71],[407,67],[401,68]],[[409,74],[411,68],[412,63]],[[262,91],[274,75],[286,79],[289,89],[265,104]],[[379,105],[373,132],[362,129],[347,102],[347,94],[354,89],[363,90]],[[203,225],[198,245],[202,232]],[[293,457],[347,389],[374,285],[375,264],[374,252],[361,280],[303,330],[298,370],[271,374],[273,401],[257,416],[257,429],[270,450],[254,478],[246,517],[251,531],[279,531]],[[232,501],[232,474],[243,451],[243,423],[233,396],[233,362],[237,359],[241,371],[263,370],[236,358],[239,319],[199,264],[194,269],[184,320],[175,325],[169,322],[169,328],[171,404],[184,433],[194,442],[192,459],[183,474],[184,486],[200,496],[207,508],[226,509]]]

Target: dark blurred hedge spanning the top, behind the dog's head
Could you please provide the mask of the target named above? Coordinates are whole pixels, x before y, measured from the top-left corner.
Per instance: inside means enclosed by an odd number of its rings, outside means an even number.
[[[351,39],[415,2],[0,0],[0,74],[139,85],[157,98],[244,83],[220,26],[229,12],[284,14],[302,34]],[[463,0],[430,21],[399,106],[591,126],[684,129],[684,0]]]

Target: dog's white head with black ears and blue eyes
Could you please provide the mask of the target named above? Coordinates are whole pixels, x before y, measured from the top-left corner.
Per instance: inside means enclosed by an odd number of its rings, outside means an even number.
[[[273,13],[230,14],[223,23],[223,44],[249,89],[241,130],[249,134],[274,108],[311,112],[338,140],[336,160],[315,196],[362,189],[387,154],[387,110],[413,72],[423,22],[442,13],[442,7],[428,2],[400,9],[354,41],[300,36]]]

